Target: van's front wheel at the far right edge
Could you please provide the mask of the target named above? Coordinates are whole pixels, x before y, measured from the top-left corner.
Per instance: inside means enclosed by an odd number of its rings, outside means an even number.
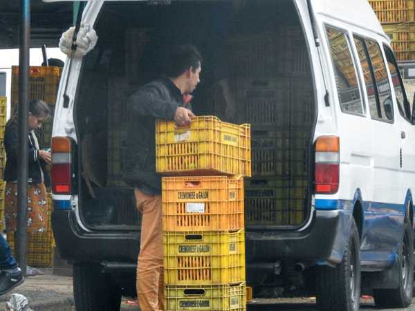
[[[414,286],[414,237],[412,226],[405,221],[403,241],[399,245],[399,287],[394,289],[374,290],[374,299],[378,308],[406,308],[412,300]]]

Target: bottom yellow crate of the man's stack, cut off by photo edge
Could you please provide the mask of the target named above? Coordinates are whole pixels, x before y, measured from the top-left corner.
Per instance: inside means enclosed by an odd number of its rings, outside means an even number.
[[[166,286],[167,311],[246,311],[246,285]]]

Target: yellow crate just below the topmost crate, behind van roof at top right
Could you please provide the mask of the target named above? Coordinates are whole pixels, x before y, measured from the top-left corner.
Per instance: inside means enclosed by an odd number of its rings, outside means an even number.
[[[382,27],[391,38],[396,59],[400,61],[415,59],[415,23],[394,23]]]

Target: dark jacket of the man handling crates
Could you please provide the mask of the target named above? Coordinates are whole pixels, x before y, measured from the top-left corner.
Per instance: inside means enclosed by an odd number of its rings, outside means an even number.
[[[145,84],[127,102],[130,122],[123,156],[127,184],[144,192],[160,194],[161,177],[156,174],[156,119],[174,120],[183,106],[181,91],[168,78]],[[190,106],[186,106],[190,109]]]

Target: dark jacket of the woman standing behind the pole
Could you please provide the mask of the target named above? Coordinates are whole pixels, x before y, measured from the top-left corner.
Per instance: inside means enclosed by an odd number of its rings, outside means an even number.
[[[42,182],[42,172],[46,187],[50,185],[50,178],[45,169],[45,162],[39,158],[39,150],[35,145],[35,133],[31,131],[28,139],[29,171],[28,181],[38,184]],[[6,148],[6,167],[3,180],[17,181],[17,154],[19,144],[19,128],[17,122],[10,122],[4,132],[4,147]]]

